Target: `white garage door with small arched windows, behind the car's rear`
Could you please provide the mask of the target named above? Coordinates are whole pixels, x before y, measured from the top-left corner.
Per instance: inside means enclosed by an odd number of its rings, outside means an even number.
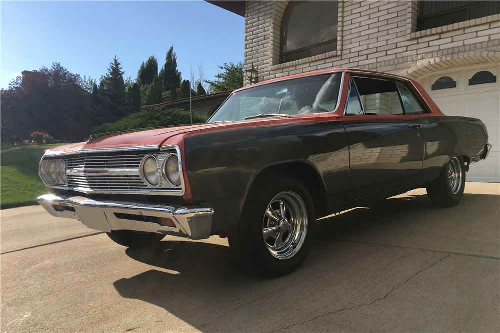
[[[467,181],[500,182],[499,72],[497,63],[462,65],[419,80],[445,115],[479,118],[486,125],[493,147],[486,160],[470,166]]]

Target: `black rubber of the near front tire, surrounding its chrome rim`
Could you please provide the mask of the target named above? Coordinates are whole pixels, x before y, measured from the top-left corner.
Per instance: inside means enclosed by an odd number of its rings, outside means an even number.
[[[262,223],[264,212],[272,198],[283,191],[297,194],[304,202],[307,210],[307,232],[300,250],[291,258],[281,260],[273,257],[266,248],[262,238]],[[309,190],[305,184],[294,175],[275,176],[268,178],[256,191],[249,207],[244,210],[242,223],[244,223],[245,238],[248,255],[256,270],[267,277],[278,277],[295,270],[304,261],[312,246],[314,238],[314,204]]]

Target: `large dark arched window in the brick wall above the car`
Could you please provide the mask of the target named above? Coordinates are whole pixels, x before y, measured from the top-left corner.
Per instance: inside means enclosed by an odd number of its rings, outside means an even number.
[[[338,1],[290,1],[281,21],[279,62],[337,49]]]

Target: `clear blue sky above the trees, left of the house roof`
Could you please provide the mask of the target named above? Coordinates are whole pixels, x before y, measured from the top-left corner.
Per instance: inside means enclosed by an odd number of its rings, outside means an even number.
[[[158,69],[173,44],[182,79],[201,62],[212,80],[243,61],[244,18],[205,1],[1,1],[1,87],[16,73],[60,62],[99,79],[114,55],[135,79],[150,55]]]

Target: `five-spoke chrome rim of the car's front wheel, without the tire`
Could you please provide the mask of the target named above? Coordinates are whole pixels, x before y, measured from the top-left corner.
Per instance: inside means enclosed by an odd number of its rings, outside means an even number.
[[[262,237],[269,253],[277,259],[293,257],[307,234],[307,209],[294,192],[280,192],[264,213]]]

